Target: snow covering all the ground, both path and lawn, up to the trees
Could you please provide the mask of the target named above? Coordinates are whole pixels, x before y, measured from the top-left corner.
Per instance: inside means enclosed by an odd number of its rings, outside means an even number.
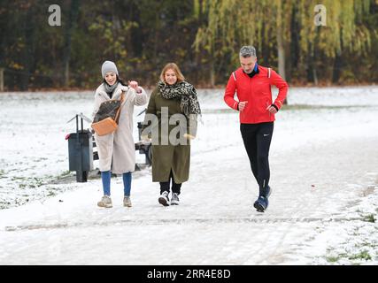
[[[112,179],[109,210],[96,207],[101,180],[67,172],[66,121],[90,115],[93,93],[2,94],[0,264],[377,264],[378,87],[290,88],[265,213],[222,94],[199,91],[180,206],[158,204],[147,168],[133,174],[131,209]]]

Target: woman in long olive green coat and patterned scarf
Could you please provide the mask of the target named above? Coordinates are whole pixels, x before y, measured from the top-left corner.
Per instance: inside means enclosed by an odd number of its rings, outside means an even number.
[[[164,206],[179,204],[181,184],[189,180],[190,139],[197,133],[199,114],[196,88],[185,81],[177,65],[167,64],[150,96],[144,127],[152,123],[143,130],[151,131],[152,181],[160,183],[158,203]]]

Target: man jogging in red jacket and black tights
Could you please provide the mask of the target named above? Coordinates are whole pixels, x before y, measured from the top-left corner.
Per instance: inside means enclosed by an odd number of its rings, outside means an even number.
[[[224,100],[229,107],[239,111],[244,147],[259,187],[258,199],[253,206],[259,212],[264,212],[272,192],[269,187],[268,156],[274,114],[282,107],[289,86],[274,70],[257,64],[256,50],[253,46],[243,46],[239,55],[242,67],[231,73]],[[271,85],[279,89],[274,103]],[[238,101],[234,99],[235,92]]]

